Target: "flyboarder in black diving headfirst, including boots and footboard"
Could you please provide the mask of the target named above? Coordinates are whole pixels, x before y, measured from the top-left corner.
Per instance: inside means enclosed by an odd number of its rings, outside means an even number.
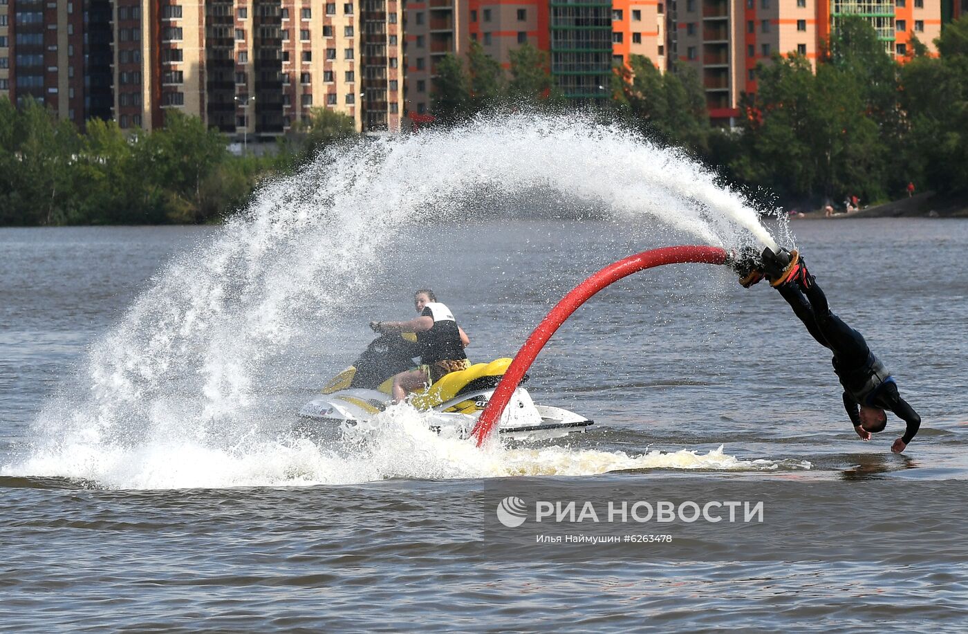
[[[904,451],[921,427],[921,416],[897,393],[897,383],[884,364],[870,351],[861,333],[831,312],[824,291],[817,286],[796,251],[764,249],[758,255],[744,249],[727,260],[740,275],[740,284],[751,287],[764,277],[790,304],[807,331],[821,346],[833,352],[833,372],[844,388],[843,401],[854,431],[863,440],[884,431],[890,409],[907,425],[891,450]]]

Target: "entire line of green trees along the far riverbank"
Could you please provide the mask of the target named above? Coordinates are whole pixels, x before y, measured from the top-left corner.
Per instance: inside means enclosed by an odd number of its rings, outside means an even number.
[[[774,54],[743,95],[734,129],[710,125],[698,73],[660,73],[645,57],[613,74],[606,115],[662,145],[685,149],[734,185],[788,205],[819,207],[853,194],[866,202],[919,191],[968,195],[968,18],[945,25],[929,55],[914,40],[898,63],[862,18],[841,21],[815,67]],[[433,124],[458,124],[508,105],[567,107],[547,53],[512,50],[507,72],[472,42],[433,78]],[[125,133],[91,120],[80,133],[37,103],[0,99],[0,225],[218,221],[267,178],[290,173],[327,143],[354,136],[352,120],[314,108],[278,152],[232,156],[227,137],[197,117],[166,112],[162,129]]]

